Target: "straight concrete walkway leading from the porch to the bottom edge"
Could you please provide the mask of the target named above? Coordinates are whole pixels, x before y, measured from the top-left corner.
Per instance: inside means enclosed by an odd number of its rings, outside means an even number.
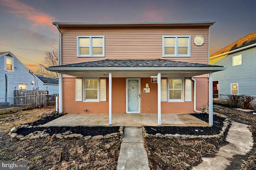
[[[142,128],[124,128],[117,170],[150,170]]]

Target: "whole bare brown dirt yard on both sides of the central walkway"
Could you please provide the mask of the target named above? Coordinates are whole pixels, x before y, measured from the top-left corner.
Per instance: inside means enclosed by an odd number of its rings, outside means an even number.
[[[121,140],[78,139],[11,139],[8,132],[13,126],[33,122],[50,114],[52,109],[34,109],[8,115],[0,115],[0,160],[28,161],[29,170],[115,170]],[[242,170],[256,167],[256,115],[224,106],[215,106],[214,111],[231,116],[236,121],[248,123],[254,137],[254,148]],[[172,134],[172,133],[169,133]],[[202,156],[214,156],[224,144],[219,139],[170,139],[146,137],[152,170],[185,170],[200,163]],[[239,169],[239,168],[236,168]]]

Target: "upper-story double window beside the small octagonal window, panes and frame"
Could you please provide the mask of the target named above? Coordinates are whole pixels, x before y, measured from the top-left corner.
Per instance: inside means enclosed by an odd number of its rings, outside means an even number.
[[[189,57],[190,36],[163,36],[163,56]]]

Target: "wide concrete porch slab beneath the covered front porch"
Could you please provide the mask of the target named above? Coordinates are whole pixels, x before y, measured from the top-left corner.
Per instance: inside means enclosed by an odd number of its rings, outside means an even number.
[[[162,114],[161,126],[209,126],[190,114]],[[70,113],[51,122],[43,127],[48,126],[109,126],[108,114],[84,114]],[[157,114],[112,114],[112,126],[158,126]]]

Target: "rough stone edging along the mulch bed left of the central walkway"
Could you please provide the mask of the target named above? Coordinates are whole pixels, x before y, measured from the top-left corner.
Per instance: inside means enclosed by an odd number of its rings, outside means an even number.
[[[96,135],[96,136],[85,136],[84,137],[82,134],[73,134],[70,131],[67,131],[67,132],[61,133],[61,134],[53,134],[52,136],[50,136],[50,134],[46,133],[45,130],[44,131],[35,131],[33,133],[30,133],[30,134],[24,136],[24,135],[15,133],[15,132],[17,132],[17,130],[19,128],[32,128],[32,127],[30,127],[29,125],[26,125],[26,124],[20,125],[20,126],[15,126],[10,130],[8,135],[11,138],[16,138],[19,140],[27,140],[27,139],[31,140],[31,139],[42,139],[42,138],[50,138],[50,140],[54,140],[56,138],[59,138],[59,139],[84,138],[84,140],[88,140],[91,138],[91,139],[97,140],[97,139],[107,139],[107,138],[116,138],[116,139],[121,138],[122,139],[123,132],[124,132],[124,126],[120,126],[119,132],[112,133],[112,134],[106,134],[104,136]]]

